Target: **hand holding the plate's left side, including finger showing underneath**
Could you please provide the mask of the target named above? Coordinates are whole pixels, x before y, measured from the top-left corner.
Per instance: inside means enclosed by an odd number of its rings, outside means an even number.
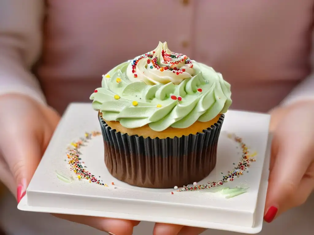
[[[60,120],[51,107],[19,94],[0,96],[0,180],[18,202]],[[116,235],[133,233],[137,221],[101,217],[55,215]]]

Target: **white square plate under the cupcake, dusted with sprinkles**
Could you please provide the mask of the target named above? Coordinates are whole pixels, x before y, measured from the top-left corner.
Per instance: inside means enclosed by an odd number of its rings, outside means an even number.
[[[228,138],[229,133],[241,137],[250,153],[257,152],[256,161],[239,178],[217,188],[197,191],[140,188],[116,180],[104,163],[102,136],[92,137],[79,149],[80,158],[86,170],[106,187],[79,180],[68,165],[69,144],[84,137],[85,132],[100,131],[98,113],[91,105],[73,103],[63,115],[18,208],[258,233],[262,229],[268,186],[269,121],[267,114],[228,111],[219,137],[217,165],[198,184],[218,182],[241,160],[241,146]],[[71,182],[60,180],[56,171],[72,179]],[[246,193],[227,199],[215,192],[225,187],[246,188]]]

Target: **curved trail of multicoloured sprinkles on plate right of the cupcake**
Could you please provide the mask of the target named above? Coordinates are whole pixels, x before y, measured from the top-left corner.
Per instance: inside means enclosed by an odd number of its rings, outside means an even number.
[[[239,178],[240,175],[243,175],[243,172],[246,171],[248,173],[248,170],[246,170],[248,167],[250,167],[250,162],[255,162],[256,160],[253,159],[254,154],[249,154],[248,147],[246,147],[246,144],[242,142],[242,139],[237,137],[236,135],[230,134],[228,135],[229,138],[233,138],[241,147],[242,149],[242,159],[239,162],[239,164],[231,171],[228,171],[228,175],[223,176],[222,180],[219,180],[218,182],[208,182],[204,185],[197,185],[197,182],[193,183],[193,186],[185,186],[183,185],[182,188],[177,190],[178,192],[182,191],[195,191],[195,190],[202,190],[202,189],[209,189],[212,187],[218,187],[223,185],[224,183],[227,183],[228,181],[233,181],[235,177]],[[233,163],[235,165],[235,163]],[[223,174],[223,173],[221,173]],[[238,195],[238,194],[237,194]],[[229,197],[228,197],[229,198]]]

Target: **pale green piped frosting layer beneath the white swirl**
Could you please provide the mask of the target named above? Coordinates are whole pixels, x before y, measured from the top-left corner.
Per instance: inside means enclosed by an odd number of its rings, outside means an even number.
[[[132,61],[122,63],[103,76],[102,87],[90,96],[92,106],[102,112],[105,120],[119,121],[126,128],[149,124],[154,131],[163,131],[168,127],[187,128],[196,121],[210,121],[231,105],[230,84],[213,68],[191,62],[194,73],[177,85],[134,81],[134,77],[128,76]],[[143,66],[147,67],[147,63]]]

